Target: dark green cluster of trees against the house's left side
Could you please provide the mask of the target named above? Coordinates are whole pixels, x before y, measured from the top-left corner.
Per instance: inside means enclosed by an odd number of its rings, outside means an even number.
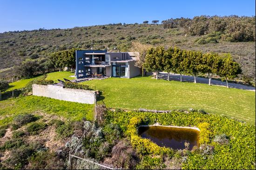
[[[59,71],[61,71],[62,67],[70,67],[71,72],[73,72],[75,66],[75,50],[79,49],[72,48],[52,53],[50,59],[53,61],[54,67],[59,68]]]

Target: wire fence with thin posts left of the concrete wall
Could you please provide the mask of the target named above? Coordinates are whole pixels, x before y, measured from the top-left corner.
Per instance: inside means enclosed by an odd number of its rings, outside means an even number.
[[[22,89],[13,89],[11,91],[1,91],[0,90],[0,101],[1,100],[6,100],[8,98],[17,98],[20,96],[25,96],[25,91],[27,91],[28,89],[32,89],[31,88],[22,88]]]

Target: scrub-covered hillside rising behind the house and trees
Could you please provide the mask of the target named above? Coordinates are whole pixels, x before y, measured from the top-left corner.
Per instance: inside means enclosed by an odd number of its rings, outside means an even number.
[[[78,47],[82,49],[110,49],[128,51],[131,41],[155,46],[178,46],[202,52],[230,52],[242,65],[243,74],[255,79],[255,41],[228,42],[217,39],[203,44],[205,35],[189,35],[185,28],[163,28],[162,24],[109,24],[70,29],[39,29],[34,31],[0,33],[0,78],[15,75],[13,66],[25,59],[44,62],[50,53]],[[93,45],[92,45],[93,44]]]

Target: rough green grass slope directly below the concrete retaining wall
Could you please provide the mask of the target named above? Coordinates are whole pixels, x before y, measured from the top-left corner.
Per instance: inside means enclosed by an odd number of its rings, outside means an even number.
[[[44,112],[68,120],[93,120],[94,105],[67,102],[53,98],[27,96],[0,101],[0,126],[13,121],[19,114]]]

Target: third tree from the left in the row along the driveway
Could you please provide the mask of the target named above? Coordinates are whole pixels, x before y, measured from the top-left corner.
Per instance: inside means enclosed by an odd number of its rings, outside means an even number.
[[[172,62],[172,70],[174,73],[178,73],[180,74],[181,78],[181,82],[182,82],[182,74],[184,74],[185,72],[185,68],[183,63],[183,60],[186,58],[186,53],[185,51],[179,49],[178,47],[174,47],[173,49],[173,54],[172,54],[172,58],[171,58],[171,62]]]

